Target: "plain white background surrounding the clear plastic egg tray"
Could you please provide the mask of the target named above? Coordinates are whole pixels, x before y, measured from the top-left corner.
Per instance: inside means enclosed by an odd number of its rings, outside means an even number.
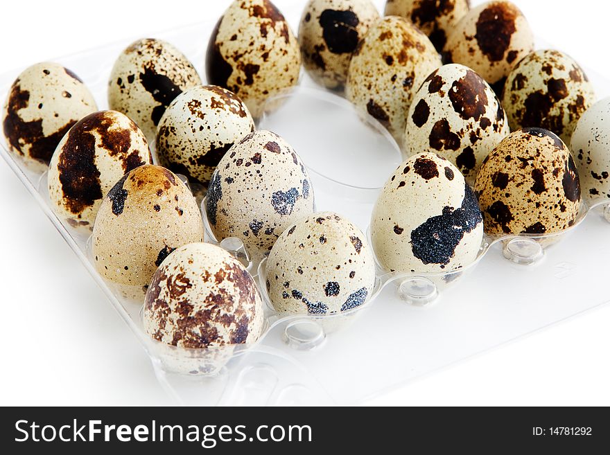
[[[304,3],[275,3],[289,1]],[[607,2],[514,3],[537,36],[610,78]],[[0,72],[216,18],[228,4],[6,1]],[[0,405],[171,404],[135,337],[3,161],[0,209]],[[607,305],[367,404],[610,405],[609,350]]]

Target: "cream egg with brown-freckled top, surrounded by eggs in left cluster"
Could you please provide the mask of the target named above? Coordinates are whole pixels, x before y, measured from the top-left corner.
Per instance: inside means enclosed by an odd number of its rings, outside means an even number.
[[[159,164],[207,186],[227,150],[252,131],[250,111],[234,93],[216,85],[189,89],[159,122]]]

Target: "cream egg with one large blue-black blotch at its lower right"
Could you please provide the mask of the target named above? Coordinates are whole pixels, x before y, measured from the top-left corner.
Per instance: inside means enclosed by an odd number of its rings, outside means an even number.
[[[476,260],[482,215],[460,170],[439,154],[405,161],[385,184],[374,206],[371,239],[381,267],[434,273]]]

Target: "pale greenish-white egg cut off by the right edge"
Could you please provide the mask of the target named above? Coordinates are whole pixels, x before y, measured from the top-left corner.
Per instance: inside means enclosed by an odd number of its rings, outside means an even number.
[[[596,102],[580,117],[570,150],[582,192],[589,199],[610,198],[610,98]]]

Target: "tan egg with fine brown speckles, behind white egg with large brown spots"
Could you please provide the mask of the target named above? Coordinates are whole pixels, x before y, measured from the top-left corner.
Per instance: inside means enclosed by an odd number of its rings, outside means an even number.
[[[401,144],[415,91],[439,66],[440,57],[426,35],[402,17],[385,17],[369,29],[351,58],[347,99]]]

